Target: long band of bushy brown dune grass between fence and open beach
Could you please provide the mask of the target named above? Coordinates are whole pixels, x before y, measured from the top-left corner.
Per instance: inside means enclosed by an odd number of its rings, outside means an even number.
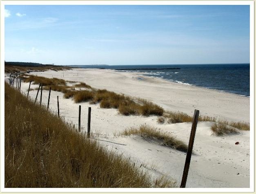
[[[66,86],[66,82],[63,79],[58,78],[45,78],[41,76],[33,76],[30,74],[22,74],[20,78],[24,82],[33,81],[35,84],[42,83],[45,87],[43,89],[63,92],[64,98],[74,98],[76,103],[90,101],[91,104],[100,103],[101,108],[114,108],[118,109],[119,113],[122,115],[163,115],[163,108],[155,105],[147,100],[138,99],[136,100],[125,96],[124,94],[116,94],[115,92],[110,92],[106,89],[93,89],[86,83],[80,82],[74,86]],[[75,90],[74,88],[87,88],[90,90]]]

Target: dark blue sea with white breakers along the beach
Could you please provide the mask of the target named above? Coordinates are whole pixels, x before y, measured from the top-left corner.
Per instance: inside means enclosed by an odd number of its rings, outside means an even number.
[[[200,65],[73,65],[73,67],[105,68],[121,72],[139,72],[141,75],[158,77],[179,84],[195,85],[238,94],[240,96],[250,96],[249,63]]]

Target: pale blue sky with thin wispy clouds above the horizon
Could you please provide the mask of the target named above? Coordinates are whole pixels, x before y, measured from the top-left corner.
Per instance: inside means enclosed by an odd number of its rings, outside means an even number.
[[[5,60],[249,63],[249,5],[6,5]]]

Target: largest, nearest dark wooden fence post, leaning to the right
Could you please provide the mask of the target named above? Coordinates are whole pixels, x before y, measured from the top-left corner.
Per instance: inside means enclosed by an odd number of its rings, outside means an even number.
[[[183,176],[182,176],[180,188],[186,187],[187,174],[189,172],[189,164],[190,164],[190,160],[191,160],[192,149],[193,149],[194,139],[195,139],[195,135],[196,135],[196,126],[197,126],[197,122],[198,122],[198,116],[199,116],[199,111],[195,109],[193,123],[192,123],[190,137],[189,137],[189,146],[187,148],[187,156],[186,156],[186,161],[185,161],[185,166],[184,166],[184,170],[183,170]]]

